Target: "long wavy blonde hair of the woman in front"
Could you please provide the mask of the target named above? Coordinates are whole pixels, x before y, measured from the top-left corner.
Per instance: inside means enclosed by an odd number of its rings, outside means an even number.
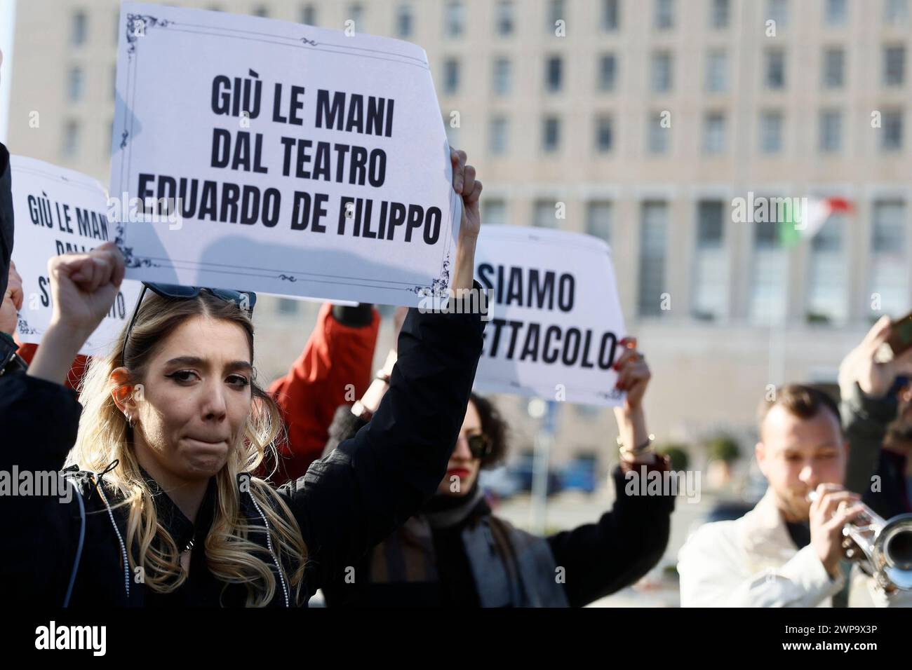
[[[185,320],[195,315],[223,319],[241,325],[247,335],[251,361],[254,359],[254,325],[237,305],[202,291],[189,300],[171,300],[148,292],[140,305],[136,322],[130,330],[130,341],[124,351],[126,328],[119,335],[113,352],[106,357],[93,358],[83,377],[79,402],[83,406],[79,419],[76,445],[70,451],[67,465],[100,472],[117,460],[104,481],[119,492],[129,505],[127,545],[131,571],[142,569],[144,581],[158,593],[170,593],[186,580],[181,570],[180,550],[158,522],[152,492],[140,471],[140,463],[132,448],[131,432],[126,417],[120,412],[111,395],[117,384],[111,372],[120,366],[121,351],[129,370],[129,384],[140,383],[150,357],[168,335]],[[243,583],[247,587],[248,605],[269,603],[276,591],[272,556],[264,547],[250,539],[251,531],[265,531],[262,525],[248,523],[241,510],[238,475],[254,470],[267,454],[275,459],[275,442],[284,436],[279,408],[272,397],[251,380],[252,407],[244,427],[242,443],[232,449],[228,461],[216,474],[216,502],[212,527],[205,540],[206,563],[221,582]],[[283,559],[295,566],[285,575],[292,602],[300,598],[304,581],[306,546],[294,515],[285,501],[263,479],[250,477],[250,495],[254,497],[269,521],[270,537],[283,571]]]

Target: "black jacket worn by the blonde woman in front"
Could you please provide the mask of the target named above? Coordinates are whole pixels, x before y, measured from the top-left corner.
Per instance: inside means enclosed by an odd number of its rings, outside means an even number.
[[[307,546],[309,598],[330,572],[352,564],[430,498],[446,472],[447,461],[465,416],[482,352],[479,314],[420,314],[409,310],[399,335],[399,362],[389,391],[370,425],[347,440],[307,473],[279,491],[295,515]],[[56,471],[63,467],[78,428],[80,406],[66,387],[21,373],[0,377],[0,470]],[[71,605],[243,604],[243,585],[224,587],[205,567],[202,541],[192,549],[191,572],[178,593],[161,596],[124,571],[126,506],[108,503],[85,473],[73,476],[85,505],[85,537]],[[0,495],[0,582],[7,603],[59,605],[79,545],[79,500],[59,496]],[[210,487],[198,517],[211,516]],[[242,496],[252,524],[264,521],[249,495]],[[192,528],[165,496],[159,520],[181,541]],[[110,510],[110,507],[114,507]],[[180,516],[178,516],[180,515]],[[116,521],[112,523],[112,518]],[[197,528],[202,540],[205,529]],[[254,532],[265,546],[265,533]],[[7,541],[8,540],[8,541]],[[285,573],[295,566],[286,565]],[[273,605],[284,606],[277,582]],[[129,595],[128,595],[129,588]],[[294,604],[294,603],[292,603]]]

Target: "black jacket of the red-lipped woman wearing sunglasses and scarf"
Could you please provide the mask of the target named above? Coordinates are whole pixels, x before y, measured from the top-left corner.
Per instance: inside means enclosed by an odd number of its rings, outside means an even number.
[[[339,407],[329,428],[326,449],[336,448],[341,440],[364,425],[364,420],[355,417],[350,407]],[[636,467],[637,474],[640,467]],[[653,469],[668,469],[668,460],[660,459],[648,467]],[[617,491],[612,510],[602,514],[595,523],[545,538],[554,564],[565,569],[563,585],[571,607],[592,603],[636,582],[658,563],[668,546],[674,496],[628,495],[627,470],[616,468],[612,477]],[[466,499],[471,497],[470,492]],[[451,502],[452,499],[435,496],[420,513],[438,511]],[[438,575],[437,579],[376,583],[371,580],[371,562],[366,556],[355,566],[358,579],[347,579],[344,572],[332,576],[323,589],[326,604],[330,607],[478,607],[478,588],[461,532],[467,524],[491,514],[491,508],[482,498],[459,523],[433,530],[430,573]],[[394,536],[402,532],[398,529]],[[386,552],[388,544],[380,544],[375,551]]]

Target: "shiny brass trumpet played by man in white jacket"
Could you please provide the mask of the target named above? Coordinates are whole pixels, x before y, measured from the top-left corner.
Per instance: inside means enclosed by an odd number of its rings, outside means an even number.
[[[816,499],[817,491],[807,494],[807,500]],[[884,520],[865,503],[858,504],[862,513],[843,526],[845,557],[857,560],[881,588],[912,591],[912,514]]]

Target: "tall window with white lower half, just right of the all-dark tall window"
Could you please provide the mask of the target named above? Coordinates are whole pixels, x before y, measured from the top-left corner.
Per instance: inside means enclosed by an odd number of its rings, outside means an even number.
[[[694,254],[692,314],[711,321],[728,313],[728,255],[723,243],[725,205],[722,201],[697,204],[697,248]]]

